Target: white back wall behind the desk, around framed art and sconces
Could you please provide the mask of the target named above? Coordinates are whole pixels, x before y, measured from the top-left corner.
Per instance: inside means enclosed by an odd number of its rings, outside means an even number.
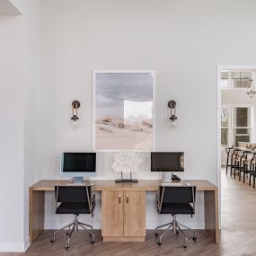
[[[184,151],[186,170],[181,178],[216,183],[216,66],[255,64],[255,7],[253,1],[231,0],[44,1],[51,67],[49,75],[45,70],[50,77],[45,86],[52,93],[41,100],[46,140],[40,147],[40,178],[59,178],[60,152],[92,150],[92,70],[149,69],[156,71],[156,150]],[[51,119],[49,98],[54,99]],[[166,106],[172,99],[178,104],[175,129],[166,124]],[[78,128],[69,121],[74,100],[82,104]],[[117,177],[110,172],[110,157],[101,156],[98,179]],[[156,179],[148,159],[137,177]],[[163,221],[151,216],[151,196],[147,227]],[[201,199],[199,195],[199,211]],[[46,227],[63,224],[66,217],[53,214],[52,194],[47,201]],[[100,225],[100,214],[93,221]],[[202,221],[203,215],[192,224],[201,227]]]

